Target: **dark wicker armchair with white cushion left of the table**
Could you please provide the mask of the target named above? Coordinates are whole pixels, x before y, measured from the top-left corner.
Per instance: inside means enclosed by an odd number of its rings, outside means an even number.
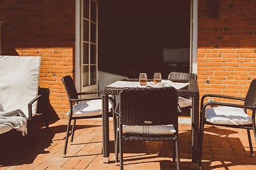
[[[77,93],[76,87],[74,85],[74,81],[72,80],[71,76],[65,76],[62,78],[62,82],[66,89],[68,95],[68,101],[70,110],[68,111],[68,126],[67,126],[67,135],[63,150],[63,157],[66,157],[67,152],[67,144],[68,144],[68,134],[70,131],[70,124],[71,121],[74,120],[74,124],[72,127],[72,134],[70,143],[72,144],[74,139],[74,132],[76,127],[76,120],[77,119],[84,119],[84,118],[99,118],[102,116],[102,97],[87,97],[87,98],[78,98],[81,95],[93,95],[93,94],[100,94],[100,91],[94,92],[80,92]],[[109,113],[113,113],[114,108],[114,99],[109,97],[111,103],[109,103]],[[113,106],[113,107],[111,107]]]

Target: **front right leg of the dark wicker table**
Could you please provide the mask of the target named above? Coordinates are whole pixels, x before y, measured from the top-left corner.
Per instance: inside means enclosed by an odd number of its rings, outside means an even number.
[[[198,142],[199,142],[199,95],[192,99],[192,162],[198,163]]]

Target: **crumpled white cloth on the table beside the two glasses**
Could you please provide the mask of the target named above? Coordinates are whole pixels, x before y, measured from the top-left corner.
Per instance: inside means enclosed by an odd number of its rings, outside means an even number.
[[[156,88],[174,87],[175,89],[182,89],[183,87],[186,87],[187,85],[189,85],[189,83],[178,83],[178,82],[173,82],[170,80],[162,80],[160,83],[156,83],[156,84],[154,84],[153,81],[149,81],[146,86],[156,87]]]

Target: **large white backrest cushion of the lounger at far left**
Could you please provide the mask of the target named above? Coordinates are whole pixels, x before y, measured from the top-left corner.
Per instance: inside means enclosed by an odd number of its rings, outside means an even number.
[[[28,103],[38,95],[40,65],[41,57],[0,56],[0,111],[22,110],[28,117]]]

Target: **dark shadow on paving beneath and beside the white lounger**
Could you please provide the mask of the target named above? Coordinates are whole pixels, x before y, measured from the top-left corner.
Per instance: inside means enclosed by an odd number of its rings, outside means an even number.
[[[76,129],[98,127],[99,125],[76,125]],[[57,125],[48,129],[35,128],[33,140],[28,136],[22,136],[21,132],[12,130],[0,136],[0,167],[31,164],[39,154],[49,153],[52,139],[56,134],[65,139],[67,125]],[[47,148],[47,150],[45,150]],[[61,148],[62,149],[62,148]]]

